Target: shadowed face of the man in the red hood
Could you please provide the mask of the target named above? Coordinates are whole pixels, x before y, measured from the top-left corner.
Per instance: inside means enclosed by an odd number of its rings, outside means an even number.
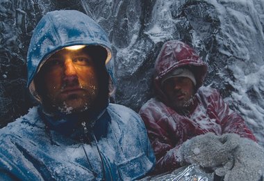
[[[163,88],[174,109],[183,109],[190,106],[190,100],[195,94],[195,86],[188,77],[167,79]]]

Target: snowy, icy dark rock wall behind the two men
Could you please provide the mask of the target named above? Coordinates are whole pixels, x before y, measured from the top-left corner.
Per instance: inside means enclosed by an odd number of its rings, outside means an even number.
[[[26,92],[26,52],[51,10],[75,9],[106,30],[115,52],[115,101],[138,111],[151,96],[160,47],[178,39],[208,63],[205,86],[218,88],[264,145],[264,1],[0,1],[0,125],[34,103]]]

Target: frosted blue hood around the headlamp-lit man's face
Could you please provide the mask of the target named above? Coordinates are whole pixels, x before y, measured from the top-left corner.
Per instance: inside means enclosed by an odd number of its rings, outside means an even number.
[[[109,96],[114,93],[112,49],[101,26],[77,10],[56,10],[44,15],[36,26],[28,47],[28,89],[36,100],[41,98],[35,91],[34,78],[44,62],[60,49],[73,45],[99,45],[108,52],[106,71],[110,75]]]

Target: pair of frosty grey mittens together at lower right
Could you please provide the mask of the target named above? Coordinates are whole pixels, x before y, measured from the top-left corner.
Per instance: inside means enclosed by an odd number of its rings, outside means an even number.
[[[177,154],[181,162],[211,168],[224,180],[259,180],[264,171],[264,148],[236,134],[196,136]]]

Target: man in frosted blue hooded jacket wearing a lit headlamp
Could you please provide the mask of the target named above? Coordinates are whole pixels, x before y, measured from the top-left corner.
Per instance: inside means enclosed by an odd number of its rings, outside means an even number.
[[[110,42],[76,10],[47,13],[28,49],[28,88],[40,102],[0,131],[0,180],[135,180],[154,166],[137,113],[110,104]]]

